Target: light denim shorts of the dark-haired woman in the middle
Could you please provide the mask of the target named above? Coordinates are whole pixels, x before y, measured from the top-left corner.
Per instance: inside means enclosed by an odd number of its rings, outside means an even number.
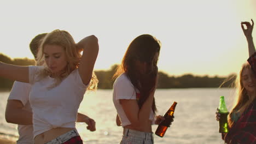
[[[124,128],[123,139],[120,144],[153,144],[153,133],[146,133]]]

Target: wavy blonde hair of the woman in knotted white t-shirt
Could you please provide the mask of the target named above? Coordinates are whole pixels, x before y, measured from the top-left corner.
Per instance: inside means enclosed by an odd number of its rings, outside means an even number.
[[[65,77],[67,77],[74,69],[77,69],[79,66],[80,59],[82,55],[80,54],[80,49],[75,44],[74,39],[72,36],[66,32],[66,31],[60,31],[59,29],[54,30],[51,33],[48,33],[45,35],[44,39],[42,40],[42,43],[40,43],[39,50],[37,53],[37,63],[40,65],[43,65],[45,68],[39,72],[39,79],[43,79],[46,76],[53,75],[51,71],[46,66],[45,60],[44,60],[44,46],[45,45],[59,45],[62,46],[63,49],[66,52],[67,57],[67,66],[65,69],[61,71],[61,74],[55,77],[55,83],[50,88],[56,87],[61,83]],[[89,86],[87,87],[87,90],[95,91],[97,89],[97,77],[94,73],[92,73],[92,78],[90,81]]]

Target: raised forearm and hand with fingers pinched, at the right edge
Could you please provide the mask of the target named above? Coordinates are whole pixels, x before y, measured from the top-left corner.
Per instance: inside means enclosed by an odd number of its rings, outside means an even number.
[[[243,25],[246,25],[247,29]],[[246,36],[247,43],[248,43],[248,50],[249,50],[249,57],[253,55],[255,52],[255,46],[253,44],[253,37],[252,37],[252,31],[253,31],[254,22],[252,20],[252,25],[250,22],[241,22],[241,27],[243,29],[243,33]]]

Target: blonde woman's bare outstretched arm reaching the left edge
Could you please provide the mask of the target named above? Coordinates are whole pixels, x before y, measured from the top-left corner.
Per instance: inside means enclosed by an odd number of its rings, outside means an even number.
[[[0,62],[0,77],[28,83],[28,67]]]

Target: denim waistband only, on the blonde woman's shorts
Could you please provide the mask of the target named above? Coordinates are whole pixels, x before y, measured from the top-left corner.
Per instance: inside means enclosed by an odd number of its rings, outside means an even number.
[[[62,134],[58,137],[56,137],[55,139],[45,143],[45,144],[59,144],[59,143],[63,143],[63,142],[66,142],[68,141],[69,139],[71,139],[72,137],[75,137],[75,136],[79,136],[78,132],[76,129],[73,129],[71,131],[68,131],[67,133],[65,134]]]

